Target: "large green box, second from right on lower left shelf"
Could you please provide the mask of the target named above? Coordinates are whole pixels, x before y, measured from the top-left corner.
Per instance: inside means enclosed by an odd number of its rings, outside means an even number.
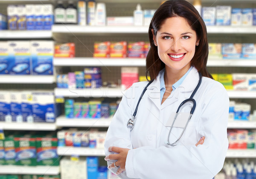
[[[15,137],[16,165],[36,166],[35,137]]]

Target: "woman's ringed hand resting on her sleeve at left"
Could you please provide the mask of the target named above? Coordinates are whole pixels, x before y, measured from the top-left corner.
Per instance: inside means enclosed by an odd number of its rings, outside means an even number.
[[[126,162],[126,157],[128,154],[128,151],[130,149],[127,148],[121,148],[121,147],[109,147],[109,151],[116,152],[117,154],[111,154],[105,157],[105,160],[117,160],[116,162],[112,163],[111,165],[108,165],[108,169],[114,168],[115,165],[116,167],[119,167],[119,169],[116,172],[116,175],[119,175],[123,171],[125,171],[125,162]],[[115,165],[114,165],[115,164]]]

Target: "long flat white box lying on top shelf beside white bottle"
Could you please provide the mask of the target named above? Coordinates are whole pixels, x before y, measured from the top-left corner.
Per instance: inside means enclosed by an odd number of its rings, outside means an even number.
[[[133,26],[134,17],[107,17],[108,26]]]

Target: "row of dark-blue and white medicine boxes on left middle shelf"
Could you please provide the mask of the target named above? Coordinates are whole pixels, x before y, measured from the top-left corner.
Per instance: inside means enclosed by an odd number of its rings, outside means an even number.
[[[0,91],[0,121],[52,123],[60,114],[52,91]]]

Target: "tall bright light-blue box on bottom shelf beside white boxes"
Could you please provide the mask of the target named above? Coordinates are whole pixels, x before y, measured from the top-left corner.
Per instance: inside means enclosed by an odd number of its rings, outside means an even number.
[[[87,178],[97,179],[99,167],[99,157],[87,156]]]

